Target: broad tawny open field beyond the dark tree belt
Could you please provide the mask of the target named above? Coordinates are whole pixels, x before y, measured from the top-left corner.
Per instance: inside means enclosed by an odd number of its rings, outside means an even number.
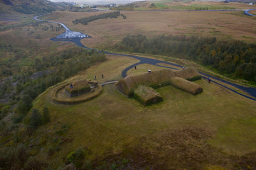
[[[75,18],[94,13],[70,13],[58,11],[48,16],[53,21],[65,23],[72,30],[86,33],[92,38],[83,39],[89,47],[110,49],[127,34],[144,35],[197,35],[215,36],[219,39],[245,40],[255,42],[255,20],[245,16],[242,11],[123,11],[126,19],[109,18],[92,21],[87,26],[73,25]],[[152,24],[154,23],[154,24]]]

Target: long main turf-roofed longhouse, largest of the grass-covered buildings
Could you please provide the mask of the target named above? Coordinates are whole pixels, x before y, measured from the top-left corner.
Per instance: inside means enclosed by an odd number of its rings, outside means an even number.
[[[151,86],[154,89],[159,86],[166,86],[171,84],[171,79],[174,77],[181,77],[187,80],[201,79],[201,75],[191,67],[173,72],[171,69],[161,69],[151,73],[144,73],[134,76],[128,76],[119,80],[116,86],[123,94],[131,97],[134,94],[134,89],[140,84]],[[184,81],[185,83],[186,81]],[[182,89],[182,88],[181,88]]]

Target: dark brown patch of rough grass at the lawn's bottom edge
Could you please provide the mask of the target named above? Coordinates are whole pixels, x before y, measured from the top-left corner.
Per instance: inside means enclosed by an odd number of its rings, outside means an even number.
[[[159,135],[141,137],[140,145],[127,147],[122,153],[105,155],[105,159],[98,158],[95,164],[119,164],[120,158],[125,157],[129,159],[129,169],[225,170],[221,166],[229,158],[205,142],[211,136],[212,132],[195,127],[164,130]],[[208,166],[211,164],[219,166]]]

